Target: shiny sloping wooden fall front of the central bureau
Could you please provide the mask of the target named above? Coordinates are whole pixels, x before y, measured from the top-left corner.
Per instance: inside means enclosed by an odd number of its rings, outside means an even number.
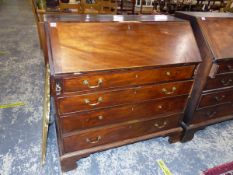
[[[200,62],[188,22],[57,22],[47,30],[55,74]]]

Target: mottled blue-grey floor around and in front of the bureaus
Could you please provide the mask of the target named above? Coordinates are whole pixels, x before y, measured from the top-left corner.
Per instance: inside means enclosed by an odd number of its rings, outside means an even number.
[[[49,130],[41,167],[43,56],[29,0],[0,0],[0,175],[59,175],[55,127]],[[188,143],[156,138],[93,154],[64,175],[162,175],[162,159],[174,175],[198,175],[233,160],[233,121],[199,131]]]

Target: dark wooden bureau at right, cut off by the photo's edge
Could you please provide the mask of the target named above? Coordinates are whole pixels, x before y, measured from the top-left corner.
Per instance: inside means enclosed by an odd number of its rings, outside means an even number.
[[[177,12],[190,20],[203,62],[185,110],[183,141],[208,125],[233,119],[233,14]]]

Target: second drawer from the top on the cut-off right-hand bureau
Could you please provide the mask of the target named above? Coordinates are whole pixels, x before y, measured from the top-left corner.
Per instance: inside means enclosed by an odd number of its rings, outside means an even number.
[[[208,78],[205,90],[218,89],[233,86],[233,73],[216,75],[215,78]]]

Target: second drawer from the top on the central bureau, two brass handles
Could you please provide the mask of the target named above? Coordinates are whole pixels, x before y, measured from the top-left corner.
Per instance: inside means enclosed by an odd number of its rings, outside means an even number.
[[[189,94],[193,81],[174,82],[159,85],[149,85],[122,89],[59,97],[59,114],[80,112],[120,104],[137,103],[144,100]]]

